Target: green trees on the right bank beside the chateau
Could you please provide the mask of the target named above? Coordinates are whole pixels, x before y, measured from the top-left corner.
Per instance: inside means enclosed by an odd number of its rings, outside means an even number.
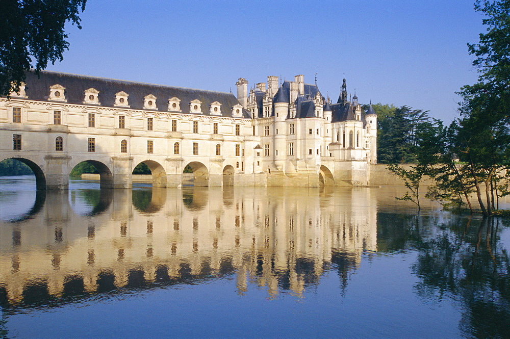
[[[459,117],[445,125],[428,112],[403,106],[374,105],[379,115],[379,162],[404,180],[410,200],[420,208],[418,189],[424,176],[435,182],[426,197],[443,205],[476,201],[484,216],[499,210],[510,193],[510,0],[477,1],[487,33],[468,43],[476,59],[477,83],[460,89]],[[412,162],[411,169],[399,164]],[[475,201],[472,201],[475,193]]]

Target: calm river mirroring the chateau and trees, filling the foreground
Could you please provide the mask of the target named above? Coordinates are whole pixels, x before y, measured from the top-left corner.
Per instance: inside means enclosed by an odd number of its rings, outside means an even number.
[[[510,336],[508,219],[403,192],[0,177],[0,336]]]

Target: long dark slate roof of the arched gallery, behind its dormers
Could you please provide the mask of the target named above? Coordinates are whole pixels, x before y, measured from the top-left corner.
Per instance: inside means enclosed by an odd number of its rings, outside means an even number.
[[[214,101],[218,101],[221,103],[222,116],[232,117],[232,107],[239,103],[232,93],[136,83],[131,81],[53,71],[41,71],[39,79],[34,73],[27,73],[27,80],[25,80],[25,83],[27,84],[25,86],[25,93],[29,100],[56,102],[48,101],[46,97],[49,95],[49,86],[59,84],[66,88],[64,95],[67,99],[67,103],[78,105],[83,105],[85,90],[89,88],[94,88],[99,91],[98,98],[100,107],[113,108],[115,93],[121,91],[129,94],[128,103],[130,109],[134,110],[143,110],[144,96],[148,94],[152,94],[157,97],[156,105],[158,109],[149,110],[155,112],[171,112],[168,111],[168,99],[174,96],[181,99],[181,113],[186,114],[190,114],[189,103],[194,99],[198,99],[202,102],[202,114],[196,115],[209,115],[209,105],[211,105]],[[120,107],[116,108],[122,109]],[[243,118],[249,117],[250,115],[248,111],[243,109]]]

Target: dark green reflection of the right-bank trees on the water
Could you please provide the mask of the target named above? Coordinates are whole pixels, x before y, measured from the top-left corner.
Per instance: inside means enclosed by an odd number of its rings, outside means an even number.
[[[471,224],[470,224],[471,223]],[[462,303],[466,335],[505,337],[510,324],[510,260],[498,246],[500,221],[452,219],[423,236],[412,270],[416,293],[427,299],[453,297]]]

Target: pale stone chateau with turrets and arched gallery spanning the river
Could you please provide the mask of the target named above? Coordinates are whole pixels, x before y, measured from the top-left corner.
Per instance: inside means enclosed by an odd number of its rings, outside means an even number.
[[[129,188],[145,163],[154,187],[364,186],[376,164],[377,116],[346,81],[336,103],[303,75],[268,76],[232,93],[43,71],[0,98],[0,161],[29,165],[38,188],[66,189],[96,166],[101,187]]]

